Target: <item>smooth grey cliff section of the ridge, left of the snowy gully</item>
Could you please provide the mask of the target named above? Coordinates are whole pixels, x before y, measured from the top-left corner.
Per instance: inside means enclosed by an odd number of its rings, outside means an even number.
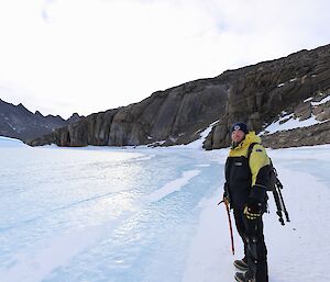
[[[199,137],[197,131],[206,128],[224,112],[228,87],[227,83],[212,83],[211,79],[188,82],[155,92],[140,103],[91,114],[28,144],[187,144]]]

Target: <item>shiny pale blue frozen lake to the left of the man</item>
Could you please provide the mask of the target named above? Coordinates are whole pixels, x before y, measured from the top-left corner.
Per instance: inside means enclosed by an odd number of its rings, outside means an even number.
[[[198,150],[136,151],[0,148],[8,281],[182,280],[223,166]]]

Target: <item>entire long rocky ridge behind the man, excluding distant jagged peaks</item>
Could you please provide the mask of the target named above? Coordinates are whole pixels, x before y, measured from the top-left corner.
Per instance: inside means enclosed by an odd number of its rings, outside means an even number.
[[[197,139],[201,129],[219,121],[204,147],[221,148],[229,145],[229,128],[237,121],[246,122],[256,132],[279,119],[284,111],[300,120],[317,115],[326,121],[328,104],[317,110],[304,101],[317,99],[320,93],[328,95],[329,90],[327,45],[158,91],[140,103],[91,114],[29,144],[169,146]],[[316,128],[321,131],[320,126]]]

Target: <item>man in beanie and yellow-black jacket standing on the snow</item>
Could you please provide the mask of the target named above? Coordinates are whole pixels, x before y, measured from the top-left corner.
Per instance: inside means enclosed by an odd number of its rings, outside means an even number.
[[[239,282],[268,282],[267,249],[262,215],[266,211],[270,158],[261,138],[246,124],[231,128],[232,147],[226,162],[223,200],[233,208],[235,225],[244,244],[244,258],[234,266]],[[250,156],[249,156],[250,155]]]

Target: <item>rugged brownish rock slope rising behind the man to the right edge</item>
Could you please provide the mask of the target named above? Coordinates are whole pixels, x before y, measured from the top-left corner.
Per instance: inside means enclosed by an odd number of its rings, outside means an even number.
[[[235,121],[246,122],[251,129],[261,132],[283,111],[295,113],[300,121],[310,117],[312,106],[304,101],[320,93],[330,94],[330,45],[229,72],[237,76],[237,82],[230,87],[226,113],[205,142],[206,149],[227,147],[229,128]],[[322,121],[329,119],[329,104],[323,108],[318,110],[321,111],[318,119]]]

